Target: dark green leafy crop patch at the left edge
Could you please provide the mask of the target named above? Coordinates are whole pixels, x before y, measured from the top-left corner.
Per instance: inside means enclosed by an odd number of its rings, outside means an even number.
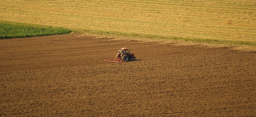
[[[63,28],[40,28],[33,26],[19,26],[0,23],[0,39],[68,34],[71,32],[71,30]]]

